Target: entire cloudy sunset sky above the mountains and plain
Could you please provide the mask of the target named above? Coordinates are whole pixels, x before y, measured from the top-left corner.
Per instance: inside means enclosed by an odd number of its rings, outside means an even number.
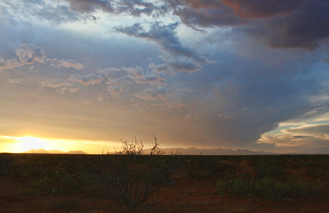
[[[0,152],[329,154],[329,1],[2,0]]]

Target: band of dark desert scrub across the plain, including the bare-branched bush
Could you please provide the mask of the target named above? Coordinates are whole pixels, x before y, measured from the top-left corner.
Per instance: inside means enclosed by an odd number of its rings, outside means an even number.
[[[152,155],[138,140],[99,155],[1,153],[0,178],[24,182],[23,195],[45,195],[67,212],[86,203],[90,212],[159,212],[147,209],[154,194],[182,175],[211,182],[219,195],[329,200],[329,155],[177,156],[158,146],[155,138]]]

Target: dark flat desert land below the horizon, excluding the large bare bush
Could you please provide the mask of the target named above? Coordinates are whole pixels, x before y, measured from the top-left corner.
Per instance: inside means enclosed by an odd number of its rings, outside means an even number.
[[[99,157],[0,154],[0,212],[329,212],[327,155],[145,157],[180,163],[174,185],[134,208],[114,205],[99,196],[111,188],[79,176],[93,175]]]

